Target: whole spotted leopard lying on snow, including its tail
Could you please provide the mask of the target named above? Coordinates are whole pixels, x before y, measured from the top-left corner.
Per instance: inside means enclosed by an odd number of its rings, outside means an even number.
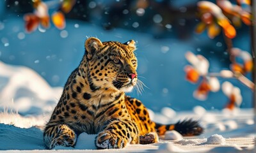
[[[159,136],[175,130],[197,136],[204,128],[198,120],[159,124],[150,119],[140,100],[127,96],[140,82],[136,42],[87,38],[84,55],[63,87],[58,104],[45,125],[47,149],[75,147],[81,133],[95,134],[97,149],[122,149],[129,144],[159,142]]]

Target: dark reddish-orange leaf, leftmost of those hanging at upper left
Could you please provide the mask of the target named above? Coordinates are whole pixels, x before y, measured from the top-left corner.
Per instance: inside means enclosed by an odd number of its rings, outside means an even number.
[[[35,31],[40,21],[40,19],[32,13],[24,15],[24,20],[25,20],[25,29],[28,33]]]

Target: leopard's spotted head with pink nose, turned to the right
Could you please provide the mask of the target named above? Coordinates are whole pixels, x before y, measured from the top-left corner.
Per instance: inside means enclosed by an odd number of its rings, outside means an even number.
[[[101,42],[97,38],[88,38],[84,43],[90,80],[105,89],[117,89],[130,92],[136,85],[137,58],[135,41]]]

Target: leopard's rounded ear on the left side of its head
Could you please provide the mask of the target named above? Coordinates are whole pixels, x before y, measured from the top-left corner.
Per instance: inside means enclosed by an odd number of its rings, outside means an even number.
[[[98,38],[94,38],[94,37],[88,38],[84,43],[84,47],[87,52],[86,54],[87,57],[91,59],[96,52],[99,52],[102,46],[103,44]]]

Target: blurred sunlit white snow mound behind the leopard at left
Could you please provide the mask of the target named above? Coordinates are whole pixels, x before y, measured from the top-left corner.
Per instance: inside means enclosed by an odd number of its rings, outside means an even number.
[[[0,61],[0,69],[0,110],[8,108],[26,115],[52,112],[62,87],[51,87],[38,73],[25,66],[11,66]]]

